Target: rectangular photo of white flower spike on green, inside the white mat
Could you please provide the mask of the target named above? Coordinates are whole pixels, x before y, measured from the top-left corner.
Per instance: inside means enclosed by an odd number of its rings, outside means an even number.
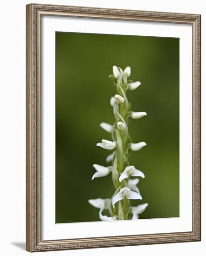
[[[56,223],[179,217],[179,48],[56,32]]]

